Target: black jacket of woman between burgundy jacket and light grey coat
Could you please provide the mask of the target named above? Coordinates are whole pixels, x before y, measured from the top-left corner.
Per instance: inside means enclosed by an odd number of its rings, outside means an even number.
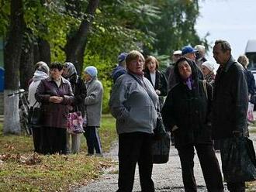
[[[86,87],[85,82],[76,74],[70,77],[72,91],[74,93],[73,111],[81,111],[81,115],[85,117],[85,98]]]

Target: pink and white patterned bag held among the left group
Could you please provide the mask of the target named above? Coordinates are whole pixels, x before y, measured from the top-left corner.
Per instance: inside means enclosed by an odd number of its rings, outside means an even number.
[[[83,118],[81,111],[71,112],[67,115],[67,132],[79,134],[85,132],[83,129]]]

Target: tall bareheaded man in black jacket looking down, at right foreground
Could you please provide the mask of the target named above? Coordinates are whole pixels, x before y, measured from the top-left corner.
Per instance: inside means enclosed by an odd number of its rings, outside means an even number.
[[[220,139],[220,153],[223,157],[225,143],[234,136],[244,135],[248,91],[244,68],[232,57],[230,43],[216,40],[213,57],[220,64],[213,94],[213,138]],[[230,191],[244,191],[244,181],[227,182],[227,188]]]

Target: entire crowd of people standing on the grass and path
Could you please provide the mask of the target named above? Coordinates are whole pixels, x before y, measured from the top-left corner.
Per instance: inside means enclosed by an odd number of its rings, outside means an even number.
[[[159,116],[171,134],[171,145],[178,150],[185,191],[197,189],[195,150],[207,190],[223,191],[216,152],[223,156],[232,135],[248,132],[247,106],[256,89],[247,70],[247,57],[242,55],[237,62],[227,41],[216,40],[213,57],[220,64],[218,70],[206,60],[204,46],[184,46],[172,53],[172,63],[163,73],[156,57],[137,50],[119,54],[109,99],[119,142],[117,191],[133,190],[137,163],[141,190],[154,191],[151,146]],[[73,63],[51,63],[50,69],[46,63],[36,63],[29,82],[29,105],[40,107],[43,115],[41,126],[32,128],[36,153],[79,153],[81,135],[66,129],[68,113],[81,111],[86,120],[88,156],[102,156],[99,127],[103,87],[97,75],[93,66],[86,67],[81,78]],[[245,184],[227,182],[227,188],[244,191]]]

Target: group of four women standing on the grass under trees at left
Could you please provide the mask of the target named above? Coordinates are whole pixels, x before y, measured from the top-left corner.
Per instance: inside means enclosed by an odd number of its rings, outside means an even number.
[[[67,132],[68,114],[79,111],[85,130],[88,156],[102,156],[98,129],[102,115],[103,87],[98,70],[85,68],[78,76],[73,63],[36,63],[29,81],[29,107],[40,108],[40,122],[31,125],[34,151],[40,154],[79,153],[81,132]]]

